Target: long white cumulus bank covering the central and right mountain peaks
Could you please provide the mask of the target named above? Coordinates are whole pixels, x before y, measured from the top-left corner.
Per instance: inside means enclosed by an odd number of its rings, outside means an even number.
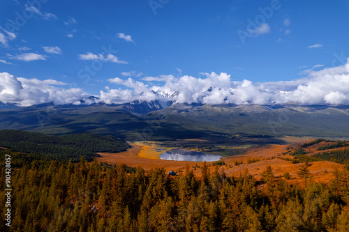
[[[131,102],[133,100],[175,100],[202,104],[349,104],[349,62],[334,68],[314,71],[322,65],[314,65],[308,76],[289,82],[253,83],[249,80],[233,82],[230,75],[215,72],[203,73],[205,78],[144,77],[146,81],[162,81],[162,86],[148,86],[131,78],[109,79],[109,82],[126,86],[127,89],[101,91],[100,101],[107,103]]]

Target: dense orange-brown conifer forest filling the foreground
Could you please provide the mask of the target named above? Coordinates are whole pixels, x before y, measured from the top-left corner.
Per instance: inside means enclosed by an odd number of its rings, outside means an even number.
[[[3,221],[0,231],[349,231],[347,169],[328,184],[310,178],[299,187],[285,180],[290,173],[276,178],[272,167],[261,183],[247,170],[235,178],[218,166],[210,173],[205,163],[201,178],[189,167],[169,178],[164,169],[8,155],[15,166],[11,225]],[[0,181],[1,190],[5,184]],[[5,202],[2,193],[0,205]]]

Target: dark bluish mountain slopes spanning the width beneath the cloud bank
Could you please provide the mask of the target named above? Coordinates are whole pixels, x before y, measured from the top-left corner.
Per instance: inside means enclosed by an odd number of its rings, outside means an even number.
[[[149,113],[148,113],[149,112]],[[141,114],[142,113],[142,114]],[[0,110],[0,130],[91,133],[125,140],[202,136],[349,137],[349,106],[149,104]]]

